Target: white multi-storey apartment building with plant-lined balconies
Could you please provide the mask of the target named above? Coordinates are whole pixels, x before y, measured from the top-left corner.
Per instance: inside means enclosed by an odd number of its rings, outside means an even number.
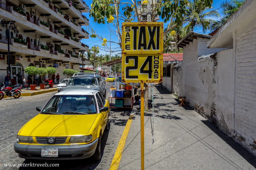
[[[63,69],[79,70],[79,64],[82,65],[79,52],[89,50],[86,44],[81,43],[82,39],[89,37],[82,28],[89,24],[82,15],[89,8],[83,0],[72,2],[76,4],[65,0],[0,1],[0,19],[4,18],[7,25],[13,22],[16,27],[9,30],[12,79],[16,79],[18,71],[27,79],[24,72],[27,66],[55,67],[60,81],[66,77]],[[3,21],[0,25],[0,83],[8,74],[7,29],[2,26]]]

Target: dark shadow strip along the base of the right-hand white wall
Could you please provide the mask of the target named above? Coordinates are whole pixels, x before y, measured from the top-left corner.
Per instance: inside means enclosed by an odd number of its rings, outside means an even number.
[[[231,137],[228,137],[224,132],[222,132],[218,127],[213,125],[208,120],[201,120],[201,122],[210,128],[223,141],[225,141],[233,150],[239,153],[247,162],[254,166],[254,168],[256,168],[256,157],[252,153],[242,147],[238,142],[234,141]],[[235,164],[239,167],[239,163],[236,162]]]

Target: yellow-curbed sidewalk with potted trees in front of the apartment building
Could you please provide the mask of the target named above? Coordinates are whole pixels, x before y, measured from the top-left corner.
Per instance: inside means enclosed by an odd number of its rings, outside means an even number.
[[[40,89],[40,86],[36,86],[36,90],[30,90],[30,88],[27,88],[26,86],[23,85],[22,89],[21,89],[20,96],[34,96],[37,94],[43,94],[43,93],[57,91],[57,85],[58,85],[58,83],[55,83],[52,88],[45,88],[45,89]],[[16,87],[19,87],[19,86],[15,86],[14,88],[16,88]],[[4,95],[4,98],[9,98],[9,97]]]

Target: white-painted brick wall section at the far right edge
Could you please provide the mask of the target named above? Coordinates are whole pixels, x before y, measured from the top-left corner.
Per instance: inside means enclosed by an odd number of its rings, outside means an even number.
[[[256,153],[256,28],[237,38],[235,131]],[[237,135],[236,135],[237,136]],[[237,138],[234,136],[235,138]],[[240,137],[241,138],[241,137]],[[240,139],[237,138],[239,141]]]

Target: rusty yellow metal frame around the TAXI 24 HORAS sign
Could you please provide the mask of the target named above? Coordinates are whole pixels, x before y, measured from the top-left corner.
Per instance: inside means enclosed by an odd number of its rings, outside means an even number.
[[[158,26],[160,37],[159,37],[159,49],[158,50],[144,50],[144,51],[138,51],[138,50],[125,50],[125,27],[141,27],[141,26]],[[138,36],[136,37],[136,40],[138,39]],[[157,39],[157,38],[156,38]],[[152,48],[152,47],[150,47]],[[146,80],[140,80],[140,79],[125,79],[125,56],[137,56],[138,59],[141,59],[140,57],[143,56],[145,58],[146,55],[148,56],[159,56],[160,57],[160,72],[159,77],[157,79],[146,79]],[[145,59],[144,59],[145,60]],[[140,60],[141,61],[141,60]],[[139,68],[137,68],[138,70]],[[144,83],[160,83],[163,81],[163,22],[123,22],[122,23],[122,82],[144,82]]]

